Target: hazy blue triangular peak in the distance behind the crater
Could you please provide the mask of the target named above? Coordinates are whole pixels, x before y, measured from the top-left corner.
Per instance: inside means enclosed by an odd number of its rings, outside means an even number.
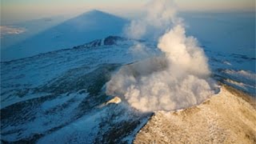
[[[42,31],[23,42],[2,50],[2,61],[26,58],[35,54],[78,46],[108,35],[119,35],[128,22],[112,14],[91,10],[78,17]]]

